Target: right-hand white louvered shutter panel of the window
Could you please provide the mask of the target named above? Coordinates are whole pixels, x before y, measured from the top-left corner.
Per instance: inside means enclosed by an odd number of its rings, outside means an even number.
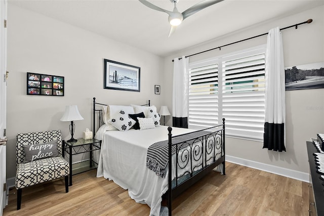
[[[250,51],[223,58],[223,118],[226,133],[262,139],[265,118],[265,54]]]

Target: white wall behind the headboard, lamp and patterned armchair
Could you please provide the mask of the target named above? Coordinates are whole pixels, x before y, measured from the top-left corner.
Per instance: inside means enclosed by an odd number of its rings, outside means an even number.
[[[141,91],[103,89],[103,59],[141,67]],[[68,122],[61,122],[65,105],[78,106],[83,121],[75,121],[75,138],[92,128],[92,101],[144,104],[159,109],[163,59],[140,49],[101,37],[40,14],[8,6],[7,177],[16,173],[17,133],[60,129],[70,138]],[[64,97],[26,95],[26,72],[65,77]]]

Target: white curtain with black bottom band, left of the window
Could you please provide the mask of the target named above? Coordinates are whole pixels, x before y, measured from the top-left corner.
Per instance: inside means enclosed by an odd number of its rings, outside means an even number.
[[[188,128],[189,58],[174,59],[172,116],[174,127]]]

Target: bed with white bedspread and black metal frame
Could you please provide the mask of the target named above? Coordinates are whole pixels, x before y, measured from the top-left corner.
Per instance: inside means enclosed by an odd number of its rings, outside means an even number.
[[[163,199],[171,215],[172,200],[216,167],[225,174],[225,119],[221,125],[198,131],[162,125],[106,130],[103,106],[109,107],[93,98],[93,130],[95,138],[102,140],[97,177],[128,190],[132,199],[150,207],[150,215],[163,214]],[[143,106],[152,107],[150,102]]]

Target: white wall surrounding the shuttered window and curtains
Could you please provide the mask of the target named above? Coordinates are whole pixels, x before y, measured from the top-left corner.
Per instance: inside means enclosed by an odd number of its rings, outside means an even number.
[[[311,24],[300,25],[298,29],[290,28],[282,31],[284,43],[285,66],[294,66],[324,61],[324,7],[317,7],[293,16],[260,23],[249,29],[233,32],[225,37],[215,39],[208,43],[183,50],[165,58],[165,83],[163,86],[172,95],[173,62],[175,57],[191,55],[200,51],[229,44],[242,39],[250,38],[268,32],[269,29],[280,28],[300,23],[312,18]],[[217,25],[217,23],[215,24]],[[246,42],[227,46],[221,49],[192,56],[189,62],[204,58],[223,55],[234,51],[265,44],[266,36]],[[170,83],[170,85],[169,85]],[[165,103],[172,107],[172,97],[165,97]],[[316,137],[316,133],[324,132],[324,89],[286,91],[286,128],[287,152],[273,152],[262,149],[263,143],[242,139],[226,139],[226,155],[231,158],[249,160],[266,165],[308,173],[308,158],[306,140]],[[168,124],[172,121],[169,119]],[[286,169],[285,169],[286,168]]]

